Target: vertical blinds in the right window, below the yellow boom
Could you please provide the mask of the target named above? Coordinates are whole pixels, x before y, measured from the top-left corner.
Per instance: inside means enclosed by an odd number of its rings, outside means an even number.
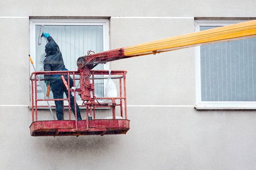
[[[203,45],[200,54],[202,101],[256,101],[256,38]]]

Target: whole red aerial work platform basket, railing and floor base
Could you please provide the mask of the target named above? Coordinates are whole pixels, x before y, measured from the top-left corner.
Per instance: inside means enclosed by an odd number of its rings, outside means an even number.
[[[80,76],[78,71],[54,71],[54,72],[33,72],[30,76],[31,80],[31,89],[32,89],[32,124],[30,126],[31,136],[79,136],[79,135],[112,135],[112,134],[126,134],[130,128],[130,120],[127,119],[127,108],[126,108],[126,73],[125,70],[111,70],[111,79],[119,79],[119,97],[101,97],[96,98],[94,95],[94,80],[95,79],[106,79],[107,77],[97,77],[95,75],[108,75],[108,70],[90,70],[92,82],[90,84],[90,91],[92,98],[89,100],[84,100],[84,103],[79,107],[86,107],[86,120],[76,120],[76,111],[75,111],[75,120],[71,120],[70,112],[70,96],[66,99],[37,99],[37,75],[46,75],[46,74],[61,74],[73,76],[73,80],[80,79],[81,84],[85,83],[85,78]],[[75,79],[75,75],[80,76],[80,78]],[[42,81],[43,79],[41,79]],[[69,81],[69,80],[68,80]],[[89,81],[89,82],[90,82]],[[123,86],[122,86],[123,82]],[[69,82],[68,82],[69,85]],[[75,81],[74,81],[75,86]],[[81,85],[82,86],[82,85]],[[87,86],[87,85],[85,85]],[[69,91],[73,91],[68,88]],[[81,92],[80,89],[75,91]],[[75,93],[74,93],[75,94]],[[71,96],[72,97],[72,96]],[[74,97],[75,98],[75,97]],[[101,103],[98,100],[102,99],[111,99],[112,103]],[[69,119],[65,120],[38,120],[38,108],[47,107],[39,106],[38,101],[54,101],[54,100],[63,100],[68,101],[69,105],[64,106],[69,109]],[[119,101],[115,103],[116,101]],[[124,106],[124,107],[123,107]],[[116,119],[116,108],[120,109],[120,117]],[[54,108],[54,106],[51,106]],[[112,108],[112,119],[96,119],[95,108]],[[64,108],[63,108],[64,109]],[[92,119],[89,120],[89,110],[92,114]],[[123,114],[124,110],[124,114]],[[63,115],[64,117],[64,115]],[[122,119],[120,119],[122,117]]]

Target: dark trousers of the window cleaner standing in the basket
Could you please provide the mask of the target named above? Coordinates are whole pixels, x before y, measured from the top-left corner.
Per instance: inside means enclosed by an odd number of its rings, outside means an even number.
[[[65,78],[66,82],[68,83],[68,76],[65,75],[64,78]],[[73,87],[73,80],[71,79],[71,77],[69,77],[69,85],[70,85],[70,88]],[[68,97],[68,90],[66,89],[61,77],[56,78],[53,81],[53,83],[51,83],[51,89],[53,92],[54,99],[63,98],[64,93]],[[55,102],[55,107],[56,107],[57,119],[63,120],[63,101],[56,100],[54,102]],[[71,92],[70,92],[70,107],[75,115],[75,101],[74,101],[74,96],[71,95]],[[82,120],[81,114],[80,114],[80,109],[79,109],[77,103],[76,103],[76,116],[77,116],[77,120]]]

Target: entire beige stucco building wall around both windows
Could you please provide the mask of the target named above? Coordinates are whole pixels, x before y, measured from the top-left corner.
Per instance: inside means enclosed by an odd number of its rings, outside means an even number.
[[[102,137],[30,136],[28,53],[29,17],[111,17],[110,48],[116,49],[191,33],[193,17],[255,17],[255,5],[251,0],[1,1],[0,169],[254,169],[255,111],[193,107],[194,48],[112,62],[111,69],[128,71],[130,130]]]

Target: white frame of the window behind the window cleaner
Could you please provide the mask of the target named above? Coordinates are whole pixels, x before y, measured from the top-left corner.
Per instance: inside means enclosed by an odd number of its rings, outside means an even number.
[[[110,50],[110,36],[109,36],[109,19],[30,19],[30,55],[33,62],[36,62],[36,25],[78,25],[78,26],[102,26],[103,27],[103,51]],[[37,69],[37,68],[36,68]],[[110,69],[110,63],[103,64],[103,69]],[[38,71],[38,70],[37,70]],[[72,70],[73,71],[73,70]],[[30,63],[30,75],[34,72],[33,66]],[[105,91],[104,80],[104,91]],[[81,105],[83,101],[77,101]],[[38,101],[38,106],[48,106],[46,101]],[[54,106],[54,101],[49,101],[51,106]],[[64,104],[68,104],[64,101]],[[32,106],[30,102],[30,106]]]

